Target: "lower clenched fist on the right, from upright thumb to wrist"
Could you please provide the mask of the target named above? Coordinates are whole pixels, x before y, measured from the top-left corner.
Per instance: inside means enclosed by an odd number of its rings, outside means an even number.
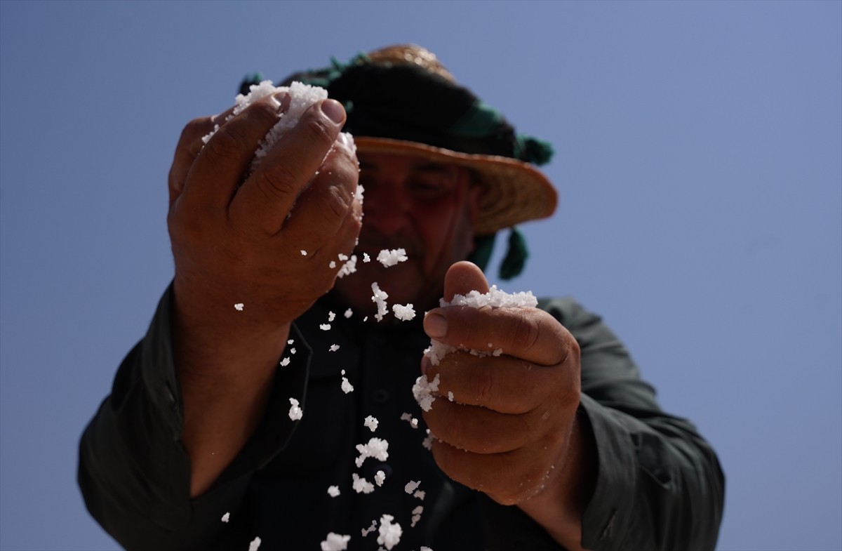
[[[467,262],[451,266],[445,300],[472,290],[488,292],[482,271]],[[537,308],[435,308],[424,329],[449,345],[503,350],[487,357],[453,352],[438,366],[424,358],[428,379],[440,375],[439,398],[424,413],[440,468],[504,505],[552,485],[568,457],[579,403],[573,336]]]

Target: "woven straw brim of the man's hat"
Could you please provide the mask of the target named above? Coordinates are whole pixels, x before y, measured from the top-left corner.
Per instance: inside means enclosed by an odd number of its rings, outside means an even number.
[[[354,136],[357,152],[423,157],[474,171],[484,188],[474,232],[495,233],[505,227],[552,215],[558,195],[546,176],[530,163],[497,155],[451,151],[424,143]]]

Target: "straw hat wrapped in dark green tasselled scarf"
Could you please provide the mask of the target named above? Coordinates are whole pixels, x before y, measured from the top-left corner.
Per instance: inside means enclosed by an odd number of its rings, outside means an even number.
[[[358,152],[418,155],[472,169],[484,188],[477,235],[555,211],[556,190],[532,164],[549,160],[549,144],[516,134],[423,47],[388,46],[285,83],[294,80],[327,88],[344,104],[345,130]]]

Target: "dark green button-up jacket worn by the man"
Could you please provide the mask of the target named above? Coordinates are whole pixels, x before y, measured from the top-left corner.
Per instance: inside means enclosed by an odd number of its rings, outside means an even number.
[[[377,549],[361,531],[384,514],[402,526],[401,549],[560,549],[520,509],[499,506],[455,484],[423,447],[425,430],[411,388],[429,339],[420,320],[397,326],[345,319],[329,298],[296,320],[262,425],[212,489],[189,499],[189,458],[179,441],[183,409],[170,334],[172,292],[146,337],[126,356],[111,395],[83,434],[79,485],[88,510],[125,548],[320,549],[328,532],[351,536],[349,549]],[[711,447],[687,420],[659,408],[624,346],[570,299],[541,301],[582,349],[585,422],[598,449],[593,498],[583,521],[592,549],[714,548],[724,479]],[[322,331],[328,311],[337,313]],[[330,351],[331,345],[339,345]],[[291,354],[291,348],[296,349]],[[341,389],[342,373],[354,392]],[[290,398],[303,419],[288,415]],[[413,428],[402,414],[418,419]],[[363,425],[379,420],[376,432]],[[385,462],[356,468],[355,446],[389,441]],[[386,481],[364,495],[352,473]],[[420,481],[424,499],[405,485]],[[337,485],[338,497],[328,495]],[[413,511],[422,506],[414,527]],[[221,522],[225,513],[229,522]]]

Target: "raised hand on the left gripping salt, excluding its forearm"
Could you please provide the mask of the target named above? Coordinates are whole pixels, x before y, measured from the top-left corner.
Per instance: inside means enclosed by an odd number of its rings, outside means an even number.
[[[359,169],[339,133],[337,102],[313,105],[242,179],[284,99],[264,98],[227,122],[220,115],[205,147],[210,117],[190,122],[179,141],[168,215],[175,296],[182,313],[205,324],[288,324],[328,292],[343,265],[338,254],[354,249]]]

